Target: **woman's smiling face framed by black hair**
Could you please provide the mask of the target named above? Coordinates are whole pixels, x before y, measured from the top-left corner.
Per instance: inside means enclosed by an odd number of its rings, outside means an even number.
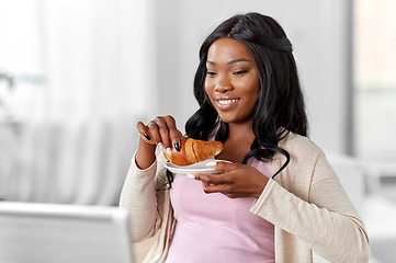
[[[205,91],[225,123],[251,121],[260,79],[246,46],[231,38],[215,41],[207,53]]]

